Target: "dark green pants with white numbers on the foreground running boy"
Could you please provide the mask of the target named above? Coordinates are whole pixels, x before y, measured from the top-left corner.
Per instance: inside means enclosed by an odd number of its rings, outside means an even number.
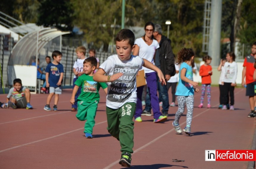
[[[115,138],[120,141],[121,152],[133,153],[133,128],[132,121],[136,110],[136,103],[125,103],[119,109],[107,107],[107,130]]]

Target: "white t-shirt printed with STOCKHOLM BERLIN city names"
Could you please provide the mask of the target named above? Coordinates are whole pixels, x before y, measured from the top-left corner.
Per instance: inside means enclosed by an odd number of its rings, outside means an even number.
[[[107,107],[118,109],[127,102],[137,102],[136,75],[143,64],[143,59],[138,56],[131,55],[130,60],[121,61],[117,55],[112,55],[100,65],[107,75],[123,73],[117,80],[108,82]]]

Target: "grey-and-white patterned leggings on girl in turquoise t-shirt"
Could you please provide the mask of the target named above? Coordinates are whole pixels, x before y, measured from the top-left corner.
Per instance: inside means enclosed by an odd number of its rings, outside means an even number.
[[[194,108],[194,95],[177,96],[178,110],[175,114],[174,122],[179,123],[179,119],[185,110],[185,103],[187,105],[187,126],[191,126],[193,108]]]

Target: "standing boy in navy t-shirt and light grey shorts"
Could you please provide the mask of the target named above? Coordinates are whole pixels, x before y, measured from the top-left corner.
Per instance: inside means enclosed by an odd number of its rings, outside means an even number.
[[[58,111],[57,103],[59,101],[59,94],[61,94],[61,82],[63,79],[63,65],[60,64],[62,53],[58,50],[52,52],[51,57],[53,58],[53,62],[49,63],[46,67],[46,87],[50,87],[49,96],[46,100],[46,105],[44,106],[44,110],[52,111],[50,108],[51,98],[55,94],[54,97],[54,106],[53,110]]]

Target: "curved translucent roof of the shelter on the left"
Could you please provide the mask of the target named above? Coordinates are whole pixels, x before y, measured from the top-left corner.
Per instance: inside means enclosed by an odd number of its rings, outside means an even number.
[[[54,38],[70,32],[42,28],[26,34],[19,40],[11,52],[8,65],[28,65],[31,56],[38,56],[40,50]]]

